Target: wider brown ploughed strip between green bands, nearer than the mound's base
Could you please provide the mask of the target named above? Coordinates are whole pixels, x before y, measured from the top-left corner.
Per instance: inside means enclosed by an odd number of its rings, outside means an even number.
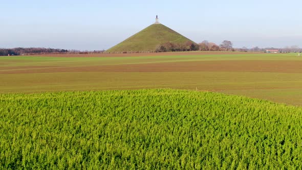
[[[80,67],[0,67],[0,74],[58,72],[280,72],[302,73],[302,61],[186,61]]]

